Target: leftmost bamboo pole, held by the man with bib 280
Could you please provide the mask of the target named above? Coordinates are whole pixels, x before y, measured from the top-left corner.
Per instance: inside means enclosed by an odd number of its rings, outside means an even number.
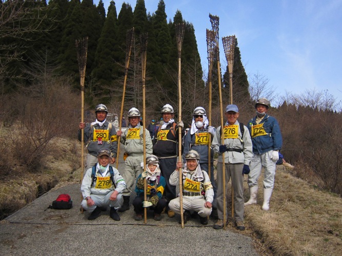
[[[81,122],[84,123],[84,81],[86,77],[86,66],[87,66],[87,52],[88,52],[88,37],[76,40],[76,52],[78,61],[79,78],[81,83]],[[81,184],[83,181],[84,174],[84,129],[81,129]],[[81,201],[83,195],[81,194]],[[83,213],[83,207],[81,207]]]

